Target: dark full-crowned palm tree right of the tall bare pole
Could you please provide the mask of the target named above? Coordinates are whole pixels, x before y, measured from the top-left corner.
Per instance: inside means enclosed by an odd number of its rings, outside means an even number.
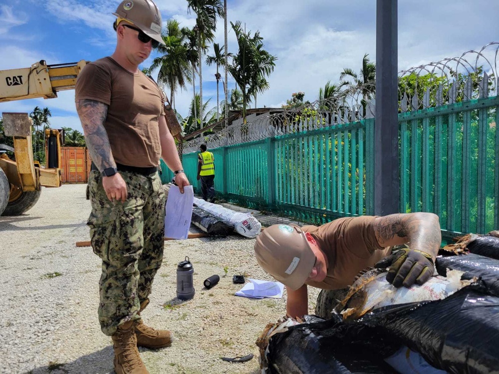
[[[234,55],[232,64],[227,68],[243,92],[243,118],[246,123],[246,107],[250,97],[263,92],[268,86],[265,77],[270,75],[277,57],[263,49],[262,37],[259,31],[251,36],[241,27],[241,22],[232,23],[239,44],[239,52]]]

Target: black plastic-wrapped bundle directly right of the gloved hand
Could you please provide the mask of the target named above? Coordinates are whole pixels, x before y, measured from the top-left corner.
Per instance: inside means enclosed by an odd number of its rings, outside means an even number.
[[[464,271],[463,279],[480,277],[488,292],[499,296],[499,260],[478,254],[462,254],[459,256],[438,256],[437,271],[446,276],[446,269]]]

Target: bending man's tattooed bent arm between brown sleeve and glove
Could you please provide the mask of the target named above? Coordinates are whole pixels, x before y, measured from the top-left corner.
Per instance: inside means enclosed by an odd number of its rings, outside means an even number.
[[[382,247],[407,243],[411,249],[429,253],[434,259],[442,243],[439,218],[433,213],[378,217],[374,223],[374,232]]]

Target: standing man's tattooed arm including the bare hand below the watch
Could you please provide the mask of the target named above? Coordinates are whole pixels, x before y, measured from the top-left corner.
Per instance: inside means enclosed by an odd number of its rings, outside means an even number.
[[[80,117],[88,151],[93,163],[101,172],[107,168],[116,168],[109,138],[104,128],[107,108],[106,104],[95,100],[76,101],[76,111]],[[102,186],[109,200],[126,200],[126,184],[118,173],[111,177],[103,177]]]

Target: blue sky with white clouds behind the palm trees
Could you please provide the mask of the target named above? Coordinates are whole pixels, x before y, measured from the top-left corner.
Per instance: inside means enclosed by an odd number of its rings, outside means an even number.
[[[111,14],[120,1],[1,0],[0,69],[28,67],[44,59],[48,64],[96,60],[114,51],[116,36]],[[175,18],[182,26],[194,24],[186,0],[158,0],[163,22]],[[259,30],[266,49],[277,56],[269,78],[270,89],[257,104],[279,107],[291,93],[317,98],[319,87],[339,80],[344,67],[359,71],[362,56],[376,57],[375,0],[229,0],[230,21],[246,22]],[[461,55],[499,41],[499,2],[490,0],[399,0],[398,70]],[[230,25],[229,25],[230,27]],[[224,42],[220,20],[216,42]],[[236,49],[234,32],[229,50]],[[148,67],[154,53],[145,61]],[[204,100],[217,105],[215,67],[203,67]],[[199,80],[198,80],[199,85]],[[229,88],[235,84],[229,78]],[[199,88],[197,88],[199,89]],[[222,85],[220,87],[223,96]],[[182,114],[192,97],[192,87],[176,94]],[[51,126],[81,131],[74,108],[74,91],[57,99],[32,99],[0,103],[0,112],[31,112],[35,106],[52,112]]]

